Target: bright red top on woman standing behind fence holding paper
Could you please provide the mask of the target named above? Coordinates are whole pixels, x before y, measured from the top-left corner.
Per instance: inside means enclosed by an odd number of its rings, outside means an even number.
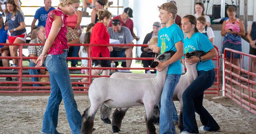
[[[103,23],[96,23],[92,29],[91,44],[109,44],[109,33]],[[110,57],[107,46],[92,46],[92,57]]]

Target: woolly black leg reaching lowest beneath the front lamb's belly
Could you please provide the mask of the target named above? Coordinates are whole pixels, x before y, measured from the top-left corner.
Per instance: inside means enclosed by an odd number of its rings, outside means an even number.
[[[120,111],[114,111],[112,115],[112,130],[114,133],[118,133],[121,129],[122,120],[124,119],[125,113],[129,108],[121,108]]]

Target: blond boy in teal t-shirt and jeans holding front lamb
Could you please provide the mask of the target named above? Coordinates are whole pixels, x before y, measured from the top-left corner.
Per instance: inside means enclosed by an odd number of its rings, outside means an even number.
[[[168,67],[167,77],[164,83],[164,88],[161,95],[161,100],[158,104],[160,109],[159,132],[176,134],[175,126],[172,121],[174,103],[171,102],[174,89],[180,80],[181,64],[180,58],[183,56],[183,32],[180,27],[175,24],[177,14],[177,6],[174,3],[164,3],[158,6],[160,11],[159,18],[161,23],[166,24],[166,27],[158,32],[158,54],[173,50],[176,53],[166,62],[158,62],[156,71],[163,71]],[[176,110],[176,109],[175,109]],[[147,122],[150,121],[149,119]]]

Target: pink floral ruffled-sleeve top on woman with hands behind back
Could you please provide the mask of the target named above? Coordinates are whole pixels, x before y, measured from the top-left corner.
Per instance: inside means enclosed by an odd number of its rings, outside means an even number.
[[[47,54],[59,55],[63,53],[63,49],[68,49],[68,39],[66,37],[66,33],[68,32],[66,28],[68,16],[63,11],[61,11],[60,8],[50,11],[48,13],[45,25],[46,38],[48,38],[50,30],[52,28],[52,22],[54,20],[52,17],[53,15],[61,16],[63,24],[60,28],[60,32],[57,34],[55,40],[52,42],[52,47],[48,50]]]

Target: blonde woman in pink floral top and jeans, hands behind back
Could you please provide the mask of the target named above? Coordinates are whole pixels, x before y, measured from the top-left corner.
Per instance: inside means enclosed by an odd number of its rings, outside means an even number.
[[[56,130],[61,100],[64,101],[68,123],[72,134],[80,134],[82,116],[77,110],[67,65],[68,39],[66,38],[67,15],[74,15],[79,0],[60,0],[59,8],[52,10],[46,20],[47,40],[42,54],[36,60],[36,67],[44,65],[49,71],[51,94],[44,112],[41,134],[59,133]]]

